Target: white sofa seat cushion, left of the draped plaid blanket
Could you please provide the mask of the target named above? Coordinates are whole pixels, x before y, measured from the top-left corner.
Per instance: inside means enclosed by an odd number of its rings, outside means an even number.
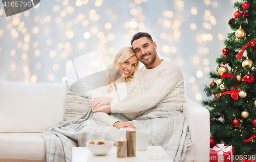
[[[44,160],[42,133],[0,133],[0,159]]]

